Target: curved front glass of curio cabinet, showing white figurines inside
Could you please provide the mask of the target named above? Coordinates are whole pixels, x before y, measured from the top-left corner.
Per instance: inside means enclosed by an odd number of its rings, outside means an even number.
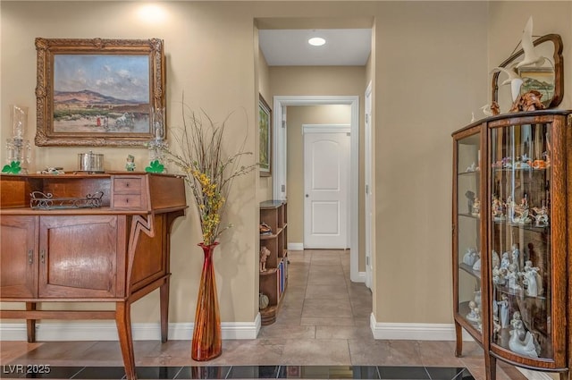
[[[553,358],[551,124],[491,130],[491,342],[523,358]]]

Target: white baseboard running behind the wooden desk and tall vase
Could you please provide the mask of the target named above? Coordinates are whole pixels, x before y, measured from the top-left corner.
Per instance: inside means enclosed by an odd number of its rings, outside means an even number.
[[[227,339],[257,339],[260,331],[260,314],[254,322],[222,322],[221,334]],[[190,341],[193,338],[192,323],[169,324],[169,339]],[[159,323],[131,325],[134,341],[158,341],[161,339]],[[25,341],[26,324],[0,324],[0,341]],[[56,341],[117,341],[117,327],[114,322],[67,322],[36,324],[38,342]]]

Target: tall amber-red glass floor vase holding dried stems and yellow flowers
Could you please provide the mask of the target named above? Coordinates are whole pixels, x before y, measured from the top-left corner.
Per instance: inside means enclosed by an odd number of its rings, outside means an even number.
[[[221,317],[214,280],[213,251],[217,242],[211,245],[198,244],[205,253],[203,272],[198,288],[195,328],[190,356],[193,360],[205,361],[218,357],[223,351]]]

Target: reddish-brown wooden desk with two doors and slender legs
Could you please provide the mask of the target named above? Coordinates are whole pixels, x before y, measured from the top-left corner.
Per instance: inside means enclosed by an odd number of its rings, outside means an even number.
[[[160,289],[166,342],[170,231],[187,207],[183,178],[118,172],[3,174],[0,180],[0,300],[26,305],[0,310],[0,318],[26,319],[29,342],[37,319],[114,319],[125,373],[136,379],[130,305]],[[92,207],[89,199],[99,191],[100,204]],[[38,308],[50,301],[114,302],[115,309]]]

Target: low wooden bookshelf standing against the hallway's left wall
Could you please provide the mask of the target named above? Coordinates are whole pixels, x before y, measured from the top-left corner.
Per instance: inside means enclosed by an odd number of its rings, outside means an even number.
[[[276,321],[276,314],[288,284],[288,219],[287,205],[282,200],[260,203],[260,223],[268,224],[272,233],[260,234],[260,249],[266,247],[270,256],[266,270],[260,272],[259,290],[268,297],[268,307],[260,310],[262,325]]]

